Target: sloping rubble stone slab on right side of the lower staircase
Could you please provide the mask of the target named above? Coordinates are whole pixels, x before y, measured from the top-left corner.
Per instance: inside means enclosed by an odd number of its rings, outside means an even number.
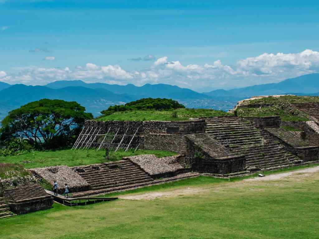
[[[169,157],[158,158],[153,154],[143,154],[137,156],[124,157],[123,160],[128,160],[139,168],[143,169],[152,178],[174,177],[183,167],[179,163],[179,158],[183,155],[174,155]]]

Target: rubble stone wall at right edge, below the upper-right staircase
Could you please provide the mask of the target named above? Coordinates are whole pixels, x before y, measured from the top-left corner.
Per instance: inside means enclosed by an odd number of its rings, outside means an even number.
[[[311,145],[319,146],[319,127],[314,121],[283,121],[281,125],[304,131],[305,140]]]

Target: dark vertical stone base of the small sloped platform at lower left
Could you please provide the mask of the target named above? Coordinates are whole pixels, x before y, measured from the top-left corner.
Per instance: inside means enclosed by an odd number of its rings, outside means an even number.
[[[10,210],[16,214],[32,213],[39,210],[50,209],[53,205],[53,197],[32,200],[24,203],[10,203]]]

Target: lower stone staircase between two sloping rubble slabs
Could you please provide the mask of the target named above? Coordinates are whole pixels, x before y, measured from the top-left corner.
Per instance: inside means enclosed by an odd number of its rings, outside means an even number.
[[[84,172],[79,172],[79,175],[91,185],[91,190],[109,192],[153,181],[147,173],[127,160],[88,165],[82,168]]]

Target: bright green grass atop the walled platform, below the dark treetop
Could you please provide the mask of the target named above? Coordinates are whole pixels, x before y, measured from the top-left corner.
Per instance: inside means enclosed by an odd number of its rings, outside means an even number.
[[[136,121],[148,121],[148,120],[158,120],[158,121],[179,121],[179,120],[189,120],[189,118],[196,117],[213,117],[213,116],[227,116],[233,115],[220,110],[213,109],[177,109],[177,117],[172,117],[174,110],[133,110],[133,111],[123,111],[115,112],[109,116],[101,116],[97,120],[107,121],[107,120],[136,120]]]

